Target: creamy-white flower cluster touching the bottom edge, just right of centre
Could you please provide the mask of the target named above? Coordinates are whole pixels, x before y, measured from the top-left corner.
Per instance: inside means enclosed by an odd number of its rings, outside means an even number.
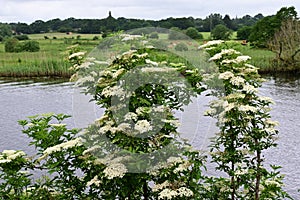
[[[164,189],[159,193],[158,199],[173,199],[175,197],[192,197],[193,191],[187,187],[180,187],[176,190]]]

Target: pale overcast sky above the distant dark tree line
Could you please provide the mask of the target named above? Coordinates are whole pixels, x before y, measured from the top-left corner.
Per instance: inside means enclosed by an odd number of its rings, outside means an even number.
[[[281,7],[294,6],[300,15],[300,0],[0,0],[0,22],[25,22],[60,18],[165,19],[168,17],[205,18],[211,13],[275,14]]]

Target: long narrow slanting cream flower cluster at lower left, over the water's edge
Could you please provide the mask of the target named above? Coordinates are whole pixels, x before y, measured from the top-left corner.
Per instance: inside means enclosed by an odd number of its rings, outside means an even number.
[[[43,152],[43,155],[40,158],[38,158],[38,161],[41,161],[41,160],[45,159],[46,157],[48,157],[50,154],[52,154],[54,152],[58,152],[58,151],[73,148],[75,146],[82,146],[82,145],[83,145],[83,140],[82,140],[82,138],[78,137],[76,139],[73,139],[73,140],[55,145],[53,147],[48,147]]]

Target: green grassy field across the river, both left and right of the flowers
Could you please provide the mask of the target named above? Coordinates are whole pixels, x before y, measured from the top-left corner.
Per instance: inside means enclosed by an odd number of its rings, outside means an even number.
[[[210,33],[202,32],[203,40],[209,40]],[[89,52],[97,46],[101,39],[94,40],[96,34],[65,34],[44,33],[32,34],[29,38],[40,43],[39,52],[6,53],[4,44],[0,43],[0,76],[12,77],[37,77],[60,76],[70,77],[70,64],[66,61],[67,48],[79,44],[82,51]],[[161,39],[167,39],[167,34],[159,34]],[[47,39],[45,39],[47,38]],[[233,34],[232,38],[236,38]],[[178,41],[180,42],[180,41]],[[203,41],[199,41],[199,45]],[[270,66],[270,60],[274,54],[268,50],[253,49],[249,46],[241,46],[239,51],[252,57],[251,63],[261,68],[261,72],[274,70]]]

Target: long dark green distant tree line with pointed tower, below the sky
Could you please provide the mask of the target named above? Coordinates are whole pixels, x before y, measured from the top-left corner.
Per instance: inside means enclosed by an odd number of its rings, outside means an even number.
[[[9,23],[2,24],[13,30],[16,34],[34,34],[46,32],[78,32],[78,33],[106,33],[120,30],[130,30],[142,27],[161,27],[171,28],[178,27],[179,29],[187,29],[195,27],[200,32],[210,32],[218,24],[225,25],[227,28],[236,31],[243,26],[252,26],[258,20],[262,19],[262,14],[257,14],[254,17],[245,15],[241,18],[230,18],[229,15],[224,17],[221,14],[210,14],[205,19],[182,17],[182,18],[167,18],[161,20],[144,20],[144,19],[127,19],[124,17],[114,18],[109,12],[108,17],[103,19],[75,19],[68,18],[61,20],[59,18],[48,21],[36,20],[31,24],[27,23]],[[1,34],[1,33],[0,33]]]

